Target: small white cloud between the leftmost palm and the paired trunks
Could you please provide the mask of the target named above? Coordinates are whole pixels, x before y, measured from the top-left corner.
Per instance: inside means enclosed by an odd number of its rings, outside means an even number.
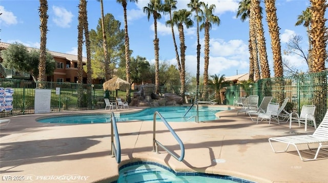
[[[61,28],[69,28],[70,23],[73,20],[74,15],[72,12],[67,11],[65,8],[52,6],[54,12],[54,18],[52,20]]]

